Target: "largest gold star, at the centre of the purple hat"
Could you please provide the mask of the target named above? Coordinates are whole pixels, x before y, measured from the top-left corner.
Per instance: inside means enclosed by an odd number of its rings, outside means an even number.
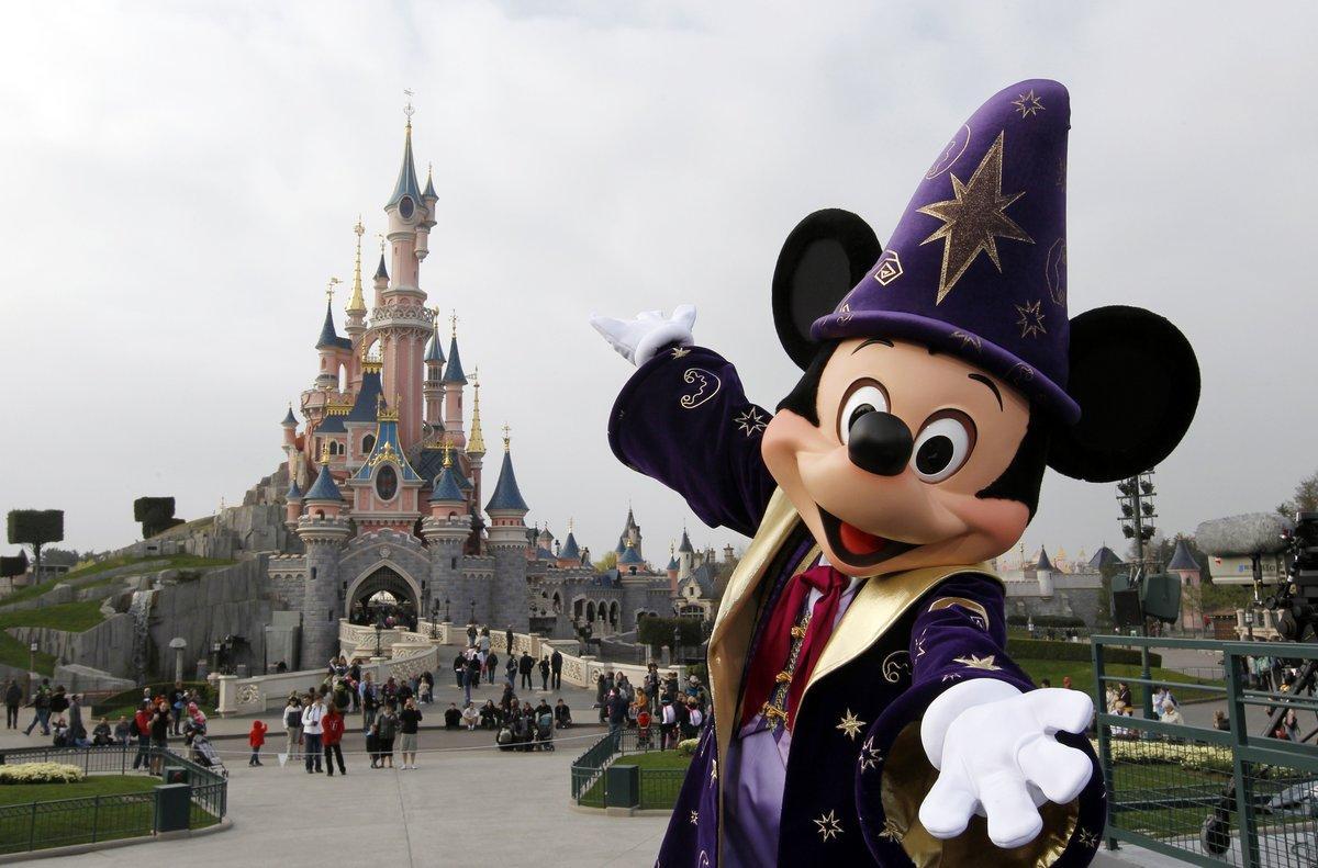
[[[970,180],[961,183],[961,179],[949,173],[952,178],[952,199],[932,202],[920,213],[942,220],[942,225],[921,245],[944,238],[942,246],[942,275],[938,279],[938,298],[936,304],[941,304],[948,298],[948,292],[957,285],[961,275],[966,273],[970,263],[979,253],[988,254],[988,259],[1002,274],[1002,261],[998,258],[998,238],[1024,241],[1033,244],[1035,240],[1025,234],[1025,231],[1016,225],[1016,221],[1003,213],[1011,203],[1024,196],[1024,191],[1004,195],[1002,192],[1002,149],[1006,133],[998,133],[998,140],[979,161]]]

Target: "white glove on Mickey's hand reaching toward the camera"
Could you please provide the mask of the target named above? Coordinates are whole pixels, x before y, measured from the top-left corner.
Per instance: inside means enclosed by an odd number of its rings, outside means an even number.
[[[920,823],[934,838],[956,838],[978,813],[999,847],[1033,840],[1044,828],[1037,806],[1072,801],[1093,771],[1089,756],[1053,736],[1083,732],[1093,714],[1079,690],[1020,693],[975,678],[944,692],[920,724],[924,751],[940,771],[920,805]]]

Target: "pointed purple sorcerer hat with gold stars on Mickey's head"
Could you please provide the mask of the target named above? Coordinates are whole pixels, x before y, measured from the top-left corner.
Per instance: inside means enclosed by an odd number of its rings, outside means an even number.
[[[1031,79],[952,136],[887,249],[816,340],[908,339],[1002,377],[1066,424],[1066,130],[1070,99]]]

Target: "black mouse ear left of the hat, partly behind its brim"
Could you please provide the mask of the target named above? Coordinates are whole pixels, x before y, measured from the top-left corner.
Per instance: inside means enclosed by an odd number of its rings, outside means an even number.
[[[774,328],[801,369],[815,357],[811,325],[879,261],[874,229],[850,211],[816,211],[796,224],[774,269]]]

